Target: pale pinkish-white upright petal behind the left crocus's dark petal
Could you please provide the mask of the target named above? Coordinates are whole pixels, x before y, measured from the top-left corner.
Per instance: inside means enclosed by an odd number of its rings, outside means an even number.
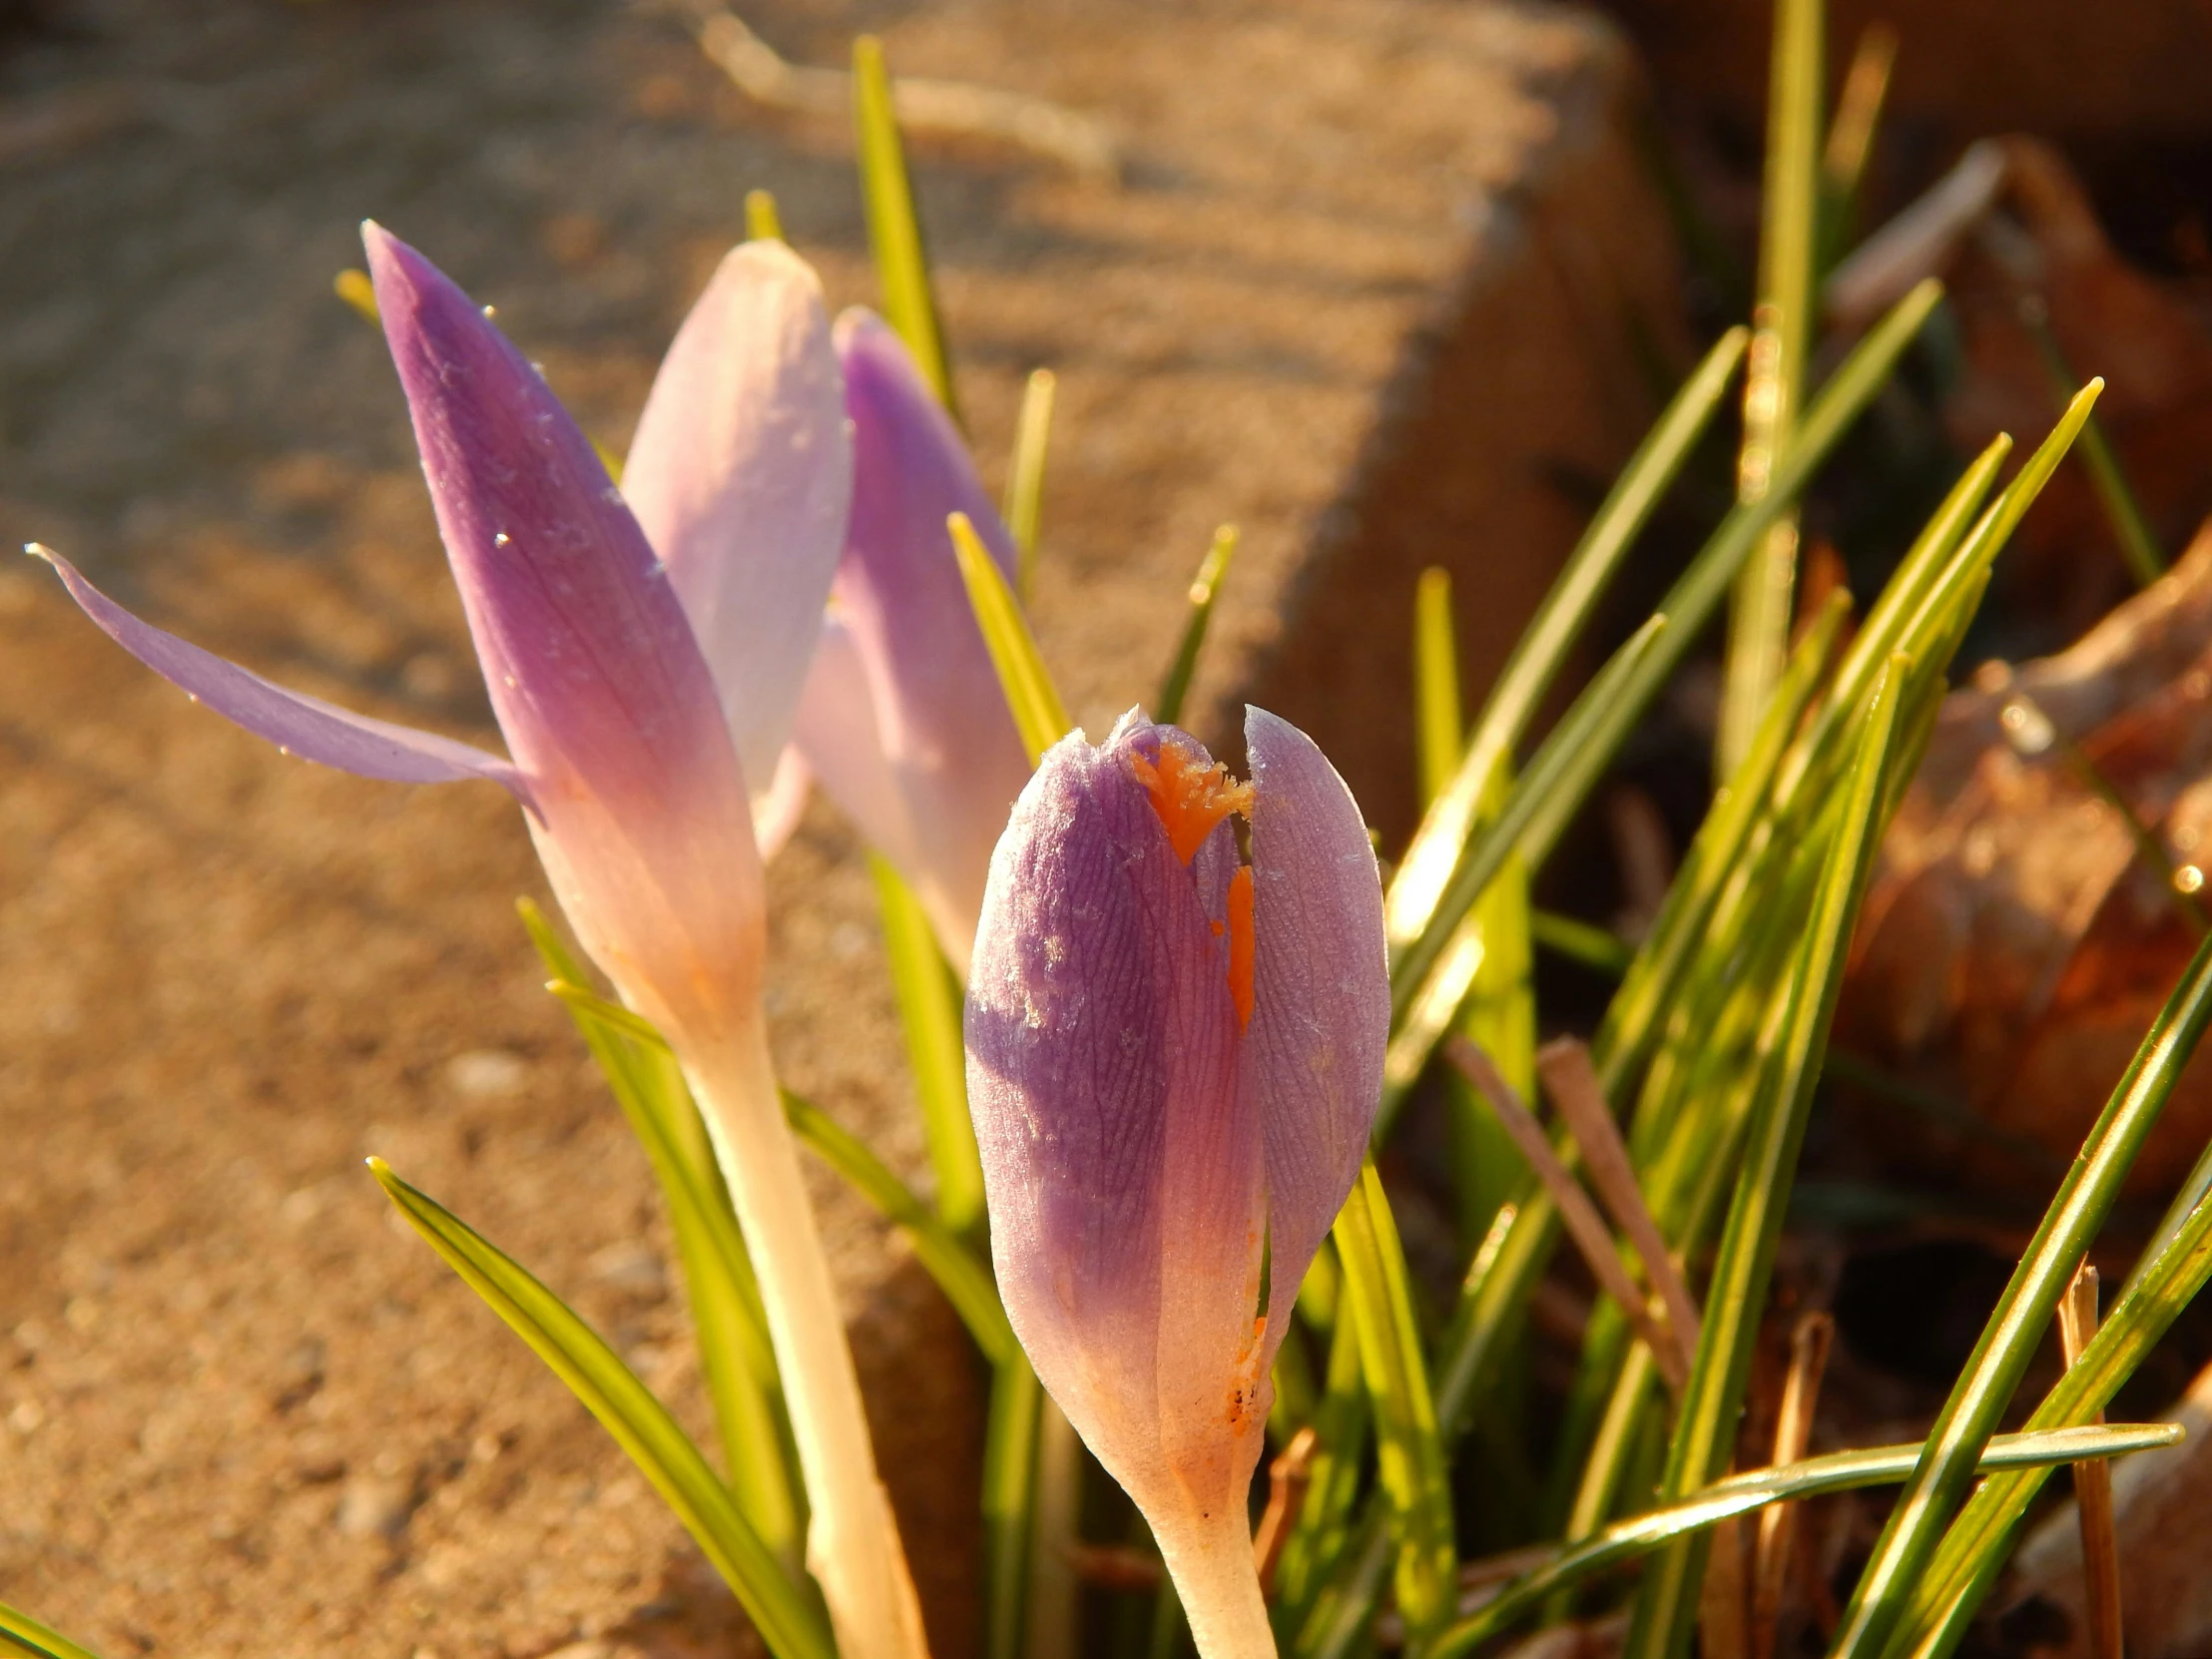
[[[852,438],[821,283],[781,241],[748,241],[677,330],[622,469],[721,688],[745,779],[792,730],[845,546]]]

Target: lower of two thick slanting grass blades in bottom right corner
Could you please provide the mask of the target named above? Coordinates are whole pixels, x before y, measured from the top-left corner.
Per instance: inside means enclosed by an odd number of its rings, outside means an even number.
[[[2028,1416],[2028,1429],[2057,1429],[2093,1420],[2135,1374],[2143,1356],[2174,1318],[2212,1281],[2212,1203],[2199,1201],[2181,1225],[2152,1252],[2112,1303],[2081,1358],[2066,1367],[2051,1394]],[[1900,1635],[1924,1630],[1916,1655],[1942,1655],[1962,1630],[1960,1610],[1971,1615],[2004,1566],[2008,1542],[2042,1489],[2044,1475],[2004,1475],[1982,1482],[1958,1522],[1944,1535],[1929,1571],[1913,1586]],[[1944,1617],[1929,1628],[1929,1621]],[[1949,1637],[1949,1639],[1947,1639]],[[1891,1652],[1900,1650],[1891,1641]]]

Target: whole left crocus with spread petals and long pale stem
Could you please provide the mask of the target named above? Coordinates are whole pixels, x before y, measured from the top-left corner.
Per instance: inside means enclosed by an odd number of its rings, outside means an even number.
[[[818,288],[776,246],[723,261],[655,383],[633,515],[467,294],[380,228],[365,241],[509,757],[290,692],[55,566],[126,650],[288,752],[403,783],[491,779],[522,803],[577,938],[668,1035],[706,1108],[783,1367],[841,1652],[909,1659],[920,1615],[768,1062],[745,787],[748,765],[765,776],[783,745],[805,670],[792,641],[812,639],[843,540],[849,456]]]

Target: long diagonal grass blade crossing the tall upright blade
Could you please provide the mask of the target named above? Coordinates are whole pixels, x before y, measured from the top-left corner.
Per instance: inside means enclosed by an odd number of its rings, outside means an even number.
[[[1683,571],[1681,580],[1674,582],[1666,599],[1661,599],[1659,617],[1666,619],[1661,637],[1650,639],[1652,624],[1646,624],[1641,633],[1615,653],[1606,668],[1590,679],[1584,695],[1575,699],[1575,708],[1553,728],[1544,748],[1528,761],[1498,823],[1475,836],[1464,854],[1455,854],[1458,867],[1451,872],[1449,883],[1440,887],[1440,898],[1420,925],[1418,938],[1394,958],[1394,1006],[1400,1013],[1418,998],[1420,980],[1436,956],[1475,896],[1504,867],[1515,847],[1528,858],[1531,872],[1542,865],[1542,856],[1548,852],[1544,832],[1557,834],[1566,825],[1610,759],[1610,748],[1599,748],[1597,752],[1575,750],[1588,745],[1593,732],[1608,734],[1613,745],[1626,737],[1635,719],[1650,706],[1650,699],[1657,697],[1659,688],[1697,644],[1701,628],[1728,593],[1736,568],[1750,555],[1756,540],[1774,522],[1776,513],[1796,498],[1812,478],[1812,471],[1827,458],[1836,440],[1882,387],[1898,356],[1911,343],[1913,334],[1920,332],[1920,325],[1927,323],[1940,296],[1940,283],[1920,283],[1867,332],[1851,356],[1820,387],[1798,429],[1798,440],[1776,462],[1767,493],[1756,502],[1739,502],[1690,562],[1690,568]],[[1630,655],[1637,659],[1624,661]],[[1586,710],[1586,703],[1595,701],[1604,706]],[[1568,752],[1555,754],[1555,750]],[[1473,748],[1469,754],[1473,754]],[[1522,796],[1528,799],[1522,801]],[[1411,854],[1407,863],[1411,863]],[[1400,867],[1398,880],[1391,883],[1394,891],[1405,876],[1407,867]]]

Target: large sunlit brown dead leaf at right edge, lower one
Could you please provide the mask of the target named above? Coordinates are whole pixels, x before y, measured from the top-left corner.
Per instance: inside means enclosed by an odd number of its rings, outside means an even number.
[[[2046,1183],[2205,929],[2212,531],[2079,644],[1951,692],[1851,945],[1836,1046],[1876,1144],[1971,1186]],[[2130,1190],[2212,1137],[2185,1073]]]

